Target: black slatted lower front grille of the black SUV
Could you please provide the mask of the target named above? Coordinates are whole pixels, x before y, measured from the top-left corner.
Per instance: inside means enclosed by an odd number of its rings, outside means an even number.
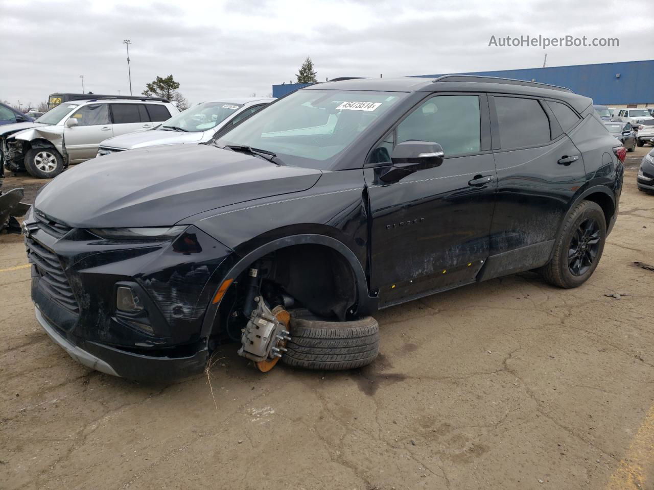
[[[27,260],[33,264],[39,274],[39,284],[53,301],[75,314],[79,313],[79,305],[63,272],[57,255],[48,250],[33,238],[25,238]]]

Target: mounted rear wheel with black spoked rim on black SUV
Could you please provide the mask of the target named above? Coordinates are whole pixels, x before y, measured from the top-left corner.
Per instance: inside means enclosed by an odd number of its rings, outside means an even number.
[[[540,270],[543,279],[566,289],[581,286],[593,275],[605,241],[604,211],[593,201],[581,201],[566,216],[554,255]]]

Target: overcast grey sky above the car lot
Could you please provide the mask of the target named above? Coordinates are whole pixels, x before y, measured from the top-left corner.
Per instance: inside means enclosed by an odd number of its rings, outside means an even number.
[[[268,95],[302,61],[318,80],[651,59],[651,0],[0,0],[0,100],[134,95],[173,74],[192,103]],[[618,37],[616,48],[489,47],[496,37]]]

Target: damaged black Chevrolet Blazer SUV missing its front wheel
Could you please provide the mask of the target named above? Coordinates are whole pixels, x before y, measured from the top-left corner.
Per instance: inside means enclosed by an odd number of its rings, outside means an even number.
[[[351,322],[526,270],[576,287],[615,223],[624,158],[565,88],[314,84],[209,144],[50,182],[23,223],[36,315],[84,365],[170,380],[238,340],[261,299]]]

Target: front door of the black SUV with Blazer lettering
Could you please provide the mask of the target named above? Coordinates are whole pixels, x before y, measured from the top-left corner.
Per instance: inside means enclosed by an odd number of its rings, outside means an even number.
[[[483,94],[434,95],[371,152],[370,276],[381,307],[475,280],[489,254],[495,193],[488,114]],[[384,184],[392,149],[407,140],[439,143],[443,163]]]

